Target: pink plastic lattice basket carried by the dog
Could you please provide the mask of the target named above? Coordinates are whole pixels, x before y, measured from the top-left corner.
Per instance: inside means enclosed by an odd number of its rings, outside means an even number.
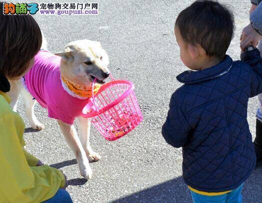
[[[91,117],[92,124],[109,141],[127,134],[143,119],[133,83],[114,79],[102,85],[95,95],[92,94],[82,116]]]

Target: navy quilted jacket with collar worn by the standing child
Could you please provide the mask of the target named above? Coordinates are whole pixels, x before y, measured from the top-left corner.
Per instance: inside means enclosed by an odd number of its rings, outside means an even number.
[[[176,77],[184,84],[172,94],[162,135],[182,146],[183,179],[194,189],[235,189],[255,166],[247,102],[262,92],[262,60],[257,49],[241,59],[226,55],[215,66]]]

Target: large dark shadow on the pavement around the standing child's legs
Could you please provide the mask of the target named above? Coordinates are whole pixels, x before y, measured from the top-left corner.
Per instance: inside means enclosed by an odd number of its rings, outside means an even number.
[[[254,169],[246,180],[242,196],[243,202],[262,202],[262,167]],[[189,189],[183,182],[183,178],[177,177],[172,180],[157,184],[147,189],[138,191],[128,196],[111,202],[192,202]]]

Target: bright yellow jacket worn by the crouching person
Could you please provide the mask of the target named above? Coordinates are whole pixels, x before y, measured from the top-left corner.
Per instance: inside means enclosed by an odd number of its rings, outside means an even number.
[[[24,123],[9,102],[0,91],[0,203],[38,203],[64,186],[64,176],[48,165],[36,166],[38,159],[23,149]]]

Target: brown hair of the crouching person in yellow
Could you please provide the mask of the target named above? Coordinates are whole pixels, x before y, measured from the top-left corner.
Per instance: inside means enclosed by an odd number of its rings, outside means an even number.
[[[4,15],[0,2],[0,74],[20,76],[38,52],[42,35],[31,15]]]

